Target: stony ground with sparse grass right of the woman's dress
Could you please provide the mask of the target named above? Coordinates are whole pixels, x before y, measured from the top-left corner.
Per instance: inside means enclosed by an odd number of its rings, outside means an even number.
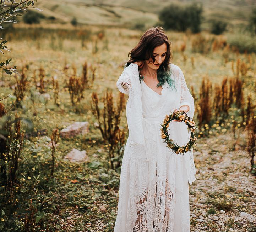
[[[232,134],[198,140],[197,180],[189,186],[191,232],[256,232],[256,178],[249,173],[246,134],[240,135],[236,146]]]

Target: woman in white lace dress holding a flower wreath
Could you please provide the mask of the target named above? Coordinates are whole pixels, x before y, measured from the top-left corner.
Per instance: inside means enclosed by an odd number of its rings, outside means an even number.
[[[162,27],[148,29],[116,85],[129,95],[129,136],[120,174],[114,232],[189,232],[189,186],[195,180],[193,152],[171,151],[161,138],[165,115],[178,110],[194,115],[194,99],[183,72],[171,59],[171,42]],[[129,56],[128,56],[129,57]],[[169,137],[187,144],[187,125],[173,120]]]

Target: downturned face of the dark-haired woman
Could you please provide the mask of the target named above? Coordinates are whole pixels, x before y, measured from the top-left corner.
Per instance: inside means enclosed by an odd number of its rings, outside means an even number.
[[[162,45],[155,47],[153,50],[153,56],[156,60],[154,63],[152,63],[153,60],[151,58],[149,60],[145,60],[148,67],[152,69],[158,69],[160,64],[164,62],[164,59],[166,57],[166,52],[167,52],[166,43],[163,43]]]

